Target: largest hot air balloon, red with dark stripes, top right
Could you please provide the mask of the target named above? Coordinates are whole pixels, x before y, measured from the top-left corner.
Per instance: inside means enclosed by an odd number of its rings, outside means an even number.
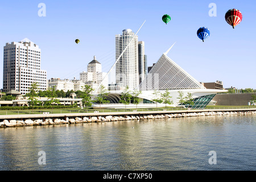
[[[228,10],[225,14],[226,22],[228,22],[228,24],[230,24],[233,28],[241,22],[242,18],[242,13],[236,9]]]

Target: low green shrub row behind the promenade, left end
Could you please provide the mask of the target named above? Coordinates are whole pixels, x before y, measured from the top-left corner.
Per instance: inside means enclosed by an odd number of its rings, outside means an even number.
[[[65,108],[73,108],[77,107],[76,105],[53,105],[53,109],[65,109]],[[26,110],[33,109],[32,106],[1,106],[0,110]],[[34,106],[34,109],[52,109],[52,106]]]

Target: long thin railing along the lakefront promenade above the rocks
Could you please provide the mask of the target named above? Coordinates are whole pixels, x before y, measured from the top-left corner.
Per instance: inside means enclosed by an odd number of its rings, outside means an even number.
[[[226,109],[255,109],[256,106],[230,106],[230,107],[207,107],[204,110],[226,110]],[[81,109],[81,110],[7,110],[0,111],[0,115],[10,114],[62,114],[62,113],[116,113],[116,112],[135,112],[135,111],[188,111],[182,107],[161,107],[161,108],[131,108],[131,109]],[[189,109],[189,110],[202,110],[202,109]]]

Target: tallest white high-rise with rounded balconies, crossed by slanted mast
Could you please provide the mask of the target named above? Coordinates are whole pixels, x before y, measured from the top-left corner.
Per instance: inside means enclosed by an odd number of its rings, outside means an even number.
[[[115,60],[118,59],[134,35],[131,29],[123,30],[122,35],[115,35]],[[115,81],[116,84],[123,87],[129,86],[129,89],[135,89],[139,85],[137,35],[115,64]]]

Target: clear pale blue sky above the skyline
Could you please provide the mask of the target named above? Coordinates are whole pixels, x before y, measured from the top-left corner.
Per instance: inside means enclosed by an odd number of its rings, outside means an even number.
[[[209,15],[210,3],[216,5],[216,16]],[[256,89],[255,5],[254,0],[1,1],[0,88],[6,43],[30,39],[41,49],[41,69],[47,71],[47,79],[73,79],[87,71],[93,56],[108,72],[115,62],[115,35],[127,28],[137,32],[146,20],[137,35],[145,42],[147,66],[176,42],[168,57],[196,80]],[[225,20],[229,9],[243,15],[234,29]],[[39,16],[43,12],[45,16]],[[164,14],[171,16],[167,24],[162,21]],[[205,42],[196,35],[200,27],[210,31]]]

